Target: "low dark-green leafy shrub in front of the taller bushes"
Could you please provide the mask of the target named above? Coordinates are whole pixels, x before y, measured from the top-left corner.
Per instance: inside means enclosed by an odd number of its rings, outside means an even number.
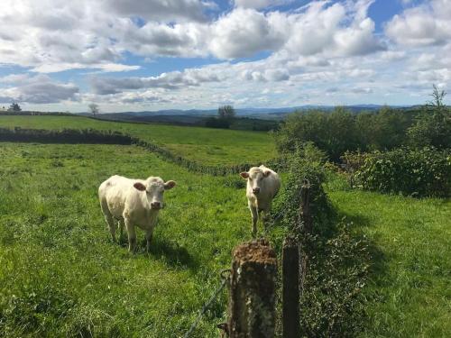
[[[374,151],[354,175],[364,189],[411,196],[450,196],[451,151],[432,147]]]

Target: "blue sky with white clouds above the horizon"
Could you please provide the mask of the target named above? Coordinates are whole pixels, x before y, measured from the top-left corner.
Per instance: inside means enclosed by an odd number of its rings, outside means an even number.
[[[413,105],[432,84],[451,91],[451,0],[0,1],[0,107]]]

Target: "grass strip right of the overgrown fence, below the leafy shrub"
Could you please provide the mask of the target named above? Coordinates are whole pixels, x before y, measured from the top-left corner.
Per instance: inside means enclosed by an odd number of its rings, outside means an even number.
[[[375,244],[363,337],[451,334],[451,201],[328,191]]]

